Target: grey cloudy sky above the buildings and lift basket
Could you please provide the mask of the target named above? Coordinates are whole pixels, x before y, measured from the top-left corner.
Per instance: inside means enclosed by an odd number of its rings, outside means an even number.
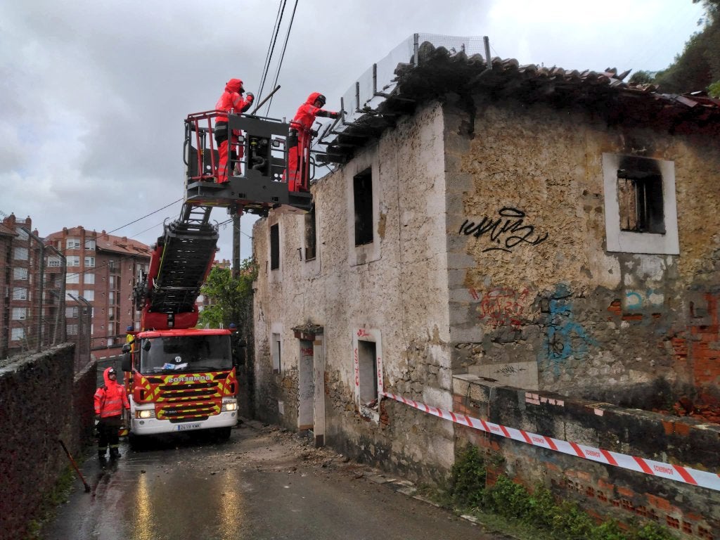
[[[180,212],[184,117],[212,109],[232,77],[257,96],[281,2],[0,3],[0,212],[30,216],[42,236],[82,225],[153,243]],[[266,92],[294,6],[287,0]],[[292,118],[311,91],[339,109],[414,32],[487,35],[492,55],[520,63],[655,71],[702,14],[691,0],[298,0],[282,88],[261,112]],[[228,219],[222,209],[212,217]],[[243,258],[254,220],[242,220]],[[230,258],[229,225],[220,238],[219,257]]]

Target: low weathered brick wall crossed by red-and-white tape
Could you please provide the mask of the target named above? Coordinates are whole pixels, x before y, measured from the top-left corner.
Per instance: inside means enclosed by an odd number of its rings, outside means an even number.
[[[720,426],[537,393],[539,405],[526,401],[525,390],[456,377],[454,412],[621,454],[695,469],[720,469]],[[503,458],[487,460],[490,485],[498,474],[507,474],[531,488],[540,482],[559,497],[577,500],[598,518],[626,523],[636,518],[660,523],[683,538],[720,538],[720,492],[462,426],[456,434],[459,446],[469,441],[487,456]]]

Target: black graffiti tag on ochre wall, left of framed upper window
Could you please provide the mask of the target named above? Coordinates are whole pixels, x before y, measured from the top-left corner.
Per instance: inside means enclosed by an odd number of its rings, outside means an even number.
[[[481,238],[486,235],[491,245],[485,251],[510,251],[520,243],[537,246],[547,239],[548,233],[541,235],[535,233],[534,225],[526,225],[525,212],[512,207],[503,207],[498,211],[500,217],[485,216],[480,222],[464,220],[460,225],[459,234],[472,235]],[[497,245],[495,245],[497,244]]]

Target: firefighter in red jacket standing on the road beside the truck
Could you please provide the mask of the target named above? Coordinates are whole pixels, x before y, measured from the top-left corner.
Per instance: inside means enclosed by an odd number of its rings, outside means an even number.
[[[125,387],[117,382],[117,372],[110,366],[102,374],[105,384],[95,392],[95,414],[99,416],[97,424],[97,455],[103,460],[110,447],[110,459],[120,457],[118,450],[118,430],[122,426],[122,413],[130,408]]]

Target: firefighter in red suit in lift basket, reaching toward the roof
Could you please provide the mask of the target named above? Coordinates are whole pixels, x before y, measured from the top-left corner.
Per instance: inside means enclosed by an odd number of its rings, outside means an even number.
[[[307,191],[310,174],[310,142],[312,140],[312,124],[315,117],[337,118],[338,112],[324,110],[325,96],[312,92],[305,103],[297,109],[290,122],[287,138],[287,189],[291,192]],[[315,133],[317,135],[317,133]]]

